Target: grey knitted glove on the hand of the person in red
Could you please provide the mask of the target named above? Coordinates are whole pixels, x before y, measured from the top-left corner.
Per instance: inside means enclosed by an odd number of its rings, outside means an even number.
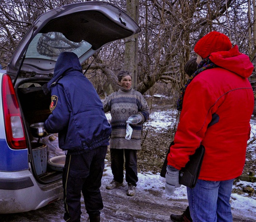
[[[168,165],[165,179],[165,193],[167,195],[172,195],[174,193],[174,188],[181,186],[179,183],[179,170]]]

